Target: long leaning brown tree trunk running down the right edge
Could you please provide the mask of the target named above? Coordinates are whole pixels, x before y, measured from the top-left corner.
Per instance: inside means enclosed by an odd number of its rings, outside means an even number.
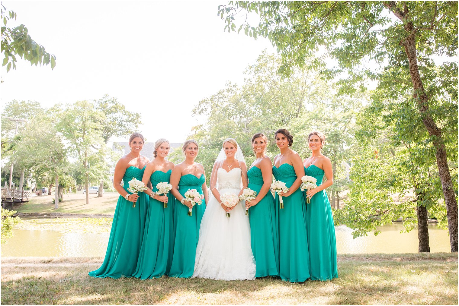
[[[437,167],[442,182],[443,196],[446,204],[446,213],[448,217],[448,231],[449,231],[449,242],[452,252],[458,251],[458,203],[456,202],[456,195],[453,191],[453,184],[451,182],[451,174],[448,167],[448,159],[445,145],[442,140],[441,130],[433,120],[432,116],[429,115],[429,97],[425,93],[424,85],[419,74],[419,66],[417,62],[416,54],[416,33],[414,31],[413,22],[409,20],[409,11],[405,7],[403,12],[400,11],[395,5],[395,1],[384,2],[395,16],[403,21],[404,29],[407,33],[410,33],[406,38],[403,38],[400,42],[405,49],[405,53],[408,57],[409,64],[409,75],[411,82],[414,87],[413,98],[418,101],[418,109],[422,115],[422,122],[424,123],[425,129],[428,131],[429,136],[433,137],[433,145],[436,149]],[[408,16],[408,17],[407,17]]]

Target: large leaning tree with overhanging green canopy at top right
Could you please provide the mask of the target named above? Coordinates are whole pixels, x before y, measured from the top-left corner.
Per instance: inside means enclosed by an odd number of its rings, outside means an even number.
[[[455,1],[231,1],[220,5],[228,31],[235,31],[235,15],[254,12],[260,17],[256,27],[246,21],[247,35],[268,38],[281,55],[278,72],[291,75],[295,66],[321,69],[325,77],[346,77],[341,92],[353,93],[368,79],[378,87],[391,86],[395,97],[410,93],[423,129],[434,148],[442,192],[448,213],[451,251],[458,251],[457,192],[448,164],[448,139],[443,133],[441,109],[437,101],[443,93],[457,101],[457,64],[435,65],[434,55],[457,55],[458,3]],[[325,69],[325,58],[311,63],[305,59],[323,46],[337,60]],[[383,67],[373,71],[368,67]],[[453,93],[451,91],[453,88]],[[457,112],[450,109],[450,112]],[[448,114],[447,116],[451,116]],[[400,118],[403,120],[404,118]],[[457,148],[457,147],[456,147]],[[454,161],[453,168],[457,167]]]

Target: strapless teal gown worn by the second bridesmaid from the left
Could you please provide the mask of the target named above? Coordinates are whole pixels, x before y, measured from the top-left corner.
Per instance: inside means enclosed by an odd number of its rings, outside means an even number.
[[[151,174],[153,191],[158,191],[159,182],[169,182],[172,170],[164,173],[157,170]],[[174,202],[172,193],[168,193],[169,202]],[[171,205],[164,208],[164,203],[150,198],[146,213],[145,231],[140,247],[137,269],[132,276],[138,279],[152,279],[166,273],[169,256],[169,232],[171,230]]]

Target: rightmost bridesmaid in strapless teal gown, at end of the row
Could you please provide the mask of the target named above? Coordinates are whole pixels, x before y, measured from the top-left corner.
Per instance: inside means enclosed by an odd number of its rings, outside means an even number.
[[[303,161],[306,175],[317,179],[317,186],[306,192],[311,202],[306,204],[306,226],[311,263],[311,279],[329,280],[338,277],[336,264],[336,238],[333,215],[325,188],[333,184],[333,171],[328,157],[320,152],[325,135],[313,131],[308,136],[312,156]],[[325,183],[322,179],[326,177]]]

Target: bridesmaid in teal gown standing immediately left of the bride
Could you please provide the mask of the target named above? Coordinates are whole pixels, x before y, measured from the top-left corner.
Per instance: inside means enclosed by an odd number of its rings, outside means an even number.
[[[174,207],[174,245],[172,262],[168,275],[171,277],[190,278],[193,275],[196,259],[196,246],[199,237],[199,226],[208,201],[206,176],[202,164],[195,163],[198,144],[187,140],[183,144],[185,160],[172,170],[172,194],[177,199]],[[185,201],[185,192],[196,189],[204,195],[201,205],[192,206]],[[191,217],[188,215],[192,208]]]

